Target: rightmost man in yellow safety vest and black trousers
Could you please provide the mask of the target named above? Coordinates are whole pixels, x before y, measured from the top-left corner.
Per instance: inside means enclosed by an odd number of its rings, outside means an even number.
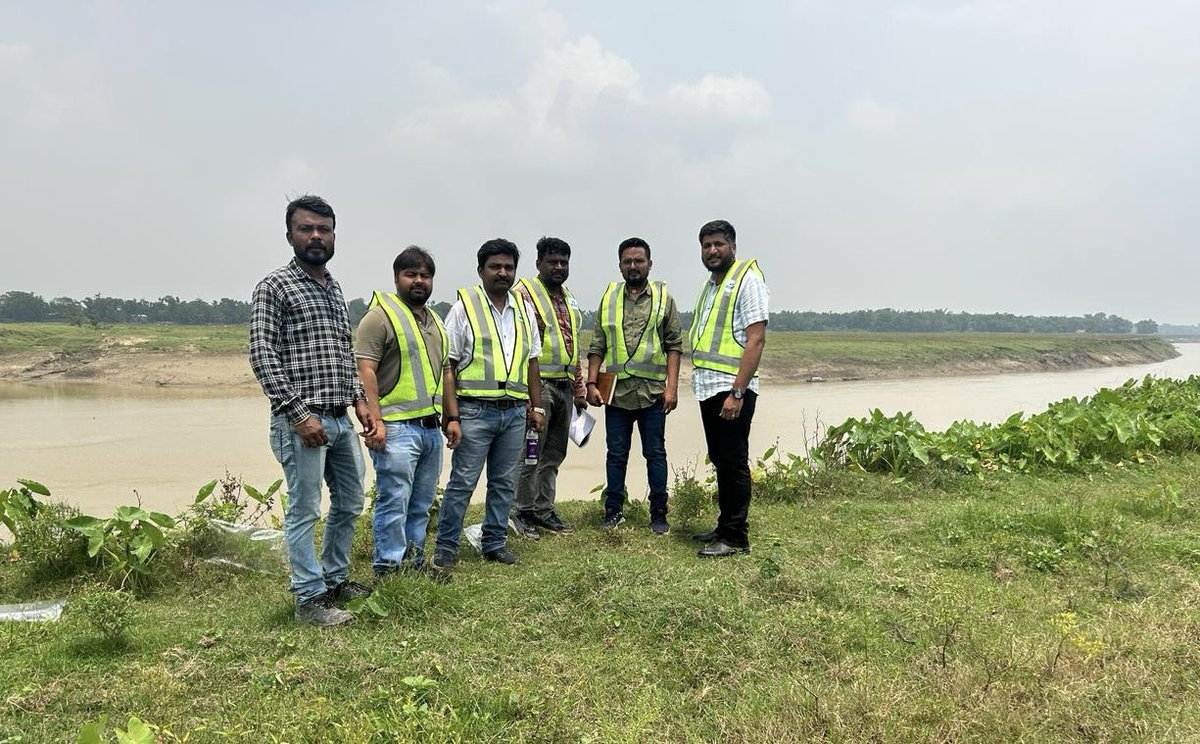
[[[709,272],[691,318],[691,389],[700,401],[708,458],[716,470],[716,527],[692,535],[702,558],[750,552],[750,422],[758,400],[758,361],[767,341],[770,292],[756,260],[737,259],[737,233],[725,220],[700,228],[700,260]]]

